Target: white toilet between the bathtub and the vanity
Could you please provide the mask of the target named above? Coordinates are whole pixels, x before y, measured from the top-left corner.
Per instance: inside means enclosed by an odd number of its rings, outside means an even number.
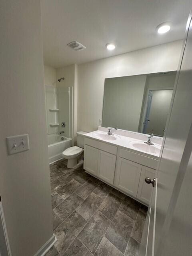
[[[67,148],[62,152],[63,158],[68,160],[68,168],[74,168],[77,165],[77,159],[82,156],[84,149],[84,134],[86,134],[86,132],[77,132],[77,146]]]

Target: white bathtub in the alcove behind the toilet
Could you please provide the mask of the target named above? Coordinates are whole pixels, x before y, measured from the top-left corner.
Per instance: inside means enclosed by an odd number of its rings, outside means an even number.
[[[72,146],[72,139],[59,134],[48,134],[49,163],[62,158],[62,152]]]

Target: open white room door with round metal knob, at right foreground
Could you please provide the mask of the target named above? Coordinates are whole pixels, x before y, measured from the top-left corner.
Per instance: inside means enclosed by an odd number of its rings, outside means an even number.
[[[148,210],[140,256],[187,256],[192,254],[192,24],[186,30],[186,44],[180,58],[166,124],[157,184]],[[152,186],[148,184],[148,186]],[[181,194],[185,190],[185,194]],[[187,212],[185,212],[187,209]]]

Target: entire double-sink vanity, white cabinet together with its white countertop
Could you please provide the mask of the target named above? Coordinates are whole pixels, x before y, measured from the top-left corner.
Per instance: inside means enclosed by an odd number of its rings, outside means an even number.
[[[138,201],[148,204],[152,185],[145,178],[155,177],[162,138],[154,137],[148,145],[148,135],[108,129],[85,134],[84,169]]]

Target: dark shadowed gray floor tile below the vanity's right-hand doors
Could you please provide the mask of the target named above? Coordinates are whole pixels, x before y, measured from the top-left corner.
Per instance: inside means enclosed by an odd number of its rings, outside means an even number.
[[[134,200],[133,198],[126,196],[119,210],[122,211],[127,216],[129,216],[130,218],[132,218],[133,220],[136,220],[140,205],[141,204]]]

